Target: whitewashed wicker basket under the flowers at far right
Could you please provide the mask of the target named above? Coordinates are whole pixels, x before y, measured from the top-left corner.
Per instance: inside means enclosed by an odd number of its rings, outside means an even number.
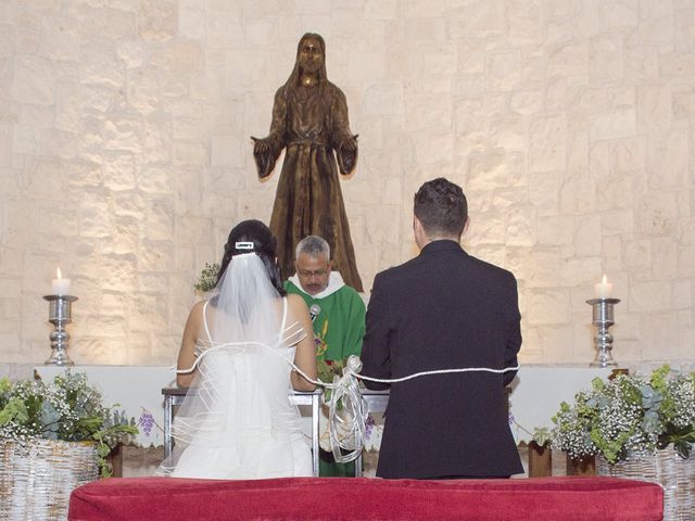
[[[626,461],[609,465],[598,455],[596,472],[658,483],[664,488],[666,521],[695,519],[695,457],[683,459],[668,447],[656,454],[630,455]]]

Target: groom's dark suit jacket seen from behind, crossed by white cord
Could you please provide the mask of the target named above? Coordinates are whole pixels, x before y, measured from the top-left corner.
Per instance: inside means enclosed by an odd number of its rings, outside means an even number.
[[[454,241],[426,245],[374,281],[362,373],[517,365],[517,283]],[[505,412],[515,372],[420,377],[391,385],[377,475],[498,476],[523,472]],[[383,384],[365,381],[369,389]]]

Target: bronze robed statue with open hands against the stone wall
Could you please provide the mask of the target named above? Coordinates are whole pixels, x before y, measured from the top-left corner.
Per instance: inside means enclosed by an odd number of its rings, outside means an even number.
[[[319,35],[306,34],[299,42],[292,74],[275,94],[270,134],[251,139],[262,179],[287,149],[270,218],[282,276],[294,274],[296,243],[320,236],[330,244],[334,269],[363,291],[338,176],[355,167],[357,136],[350,131],[345,94],[328,81]]]

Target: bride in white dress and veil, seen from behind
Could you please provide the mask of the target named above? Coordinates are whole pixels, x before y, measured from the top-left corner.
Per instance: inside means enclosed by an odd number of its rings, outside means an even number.
[[[286,295],[276,241],[258,220],[237,225],[225,244],[214,295],[193,306],[178,355],[190,387],[172,428],[175,449],[159,473],[179,478],[312,475],[309,445],[290,386],[314,384],[316,355],[306,304]]]

